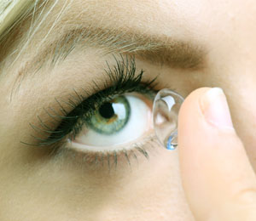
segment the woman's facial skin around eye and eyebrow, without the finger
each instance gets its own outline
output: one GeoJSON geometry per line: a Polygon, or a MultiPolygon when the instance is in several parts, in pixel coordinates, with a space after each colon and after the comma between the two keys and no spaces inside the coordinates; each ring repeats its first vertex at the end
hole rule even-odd
{"type": "Polygon", "coordinates": [[[103,167],[91,171],[72,160],[53,161],[20,145],[30,133],[27,124],[34,111],[39,113],[50,99],[65,95],[70,82],[86,84],[80,70],[90,70],[87,80],[93,79],[95,68],[105,60],[97,56],[97,47],[74,52],[51,77],[45,77],[43,69],[31,81],[26,79],[11,103],[6,82],[11,84],[15,73],[47,42],[77,26],[137,31],[201,45],[207,49],[203,69],[180,70],[147,59],[138,59],[137,64],[149,76],[160,71],[160,81],[183,96],[204,86],[224,88],[236,131],[256,168],[255,14],[253,0],[59,1],[15,65],[4,67],[9,75],[0,81],[0,219],[193,220],[179,178],[177,152],[166,154],[157,148],[149,161],[141,158],[131,168],[122,166],[109,173],[103,167]]]}

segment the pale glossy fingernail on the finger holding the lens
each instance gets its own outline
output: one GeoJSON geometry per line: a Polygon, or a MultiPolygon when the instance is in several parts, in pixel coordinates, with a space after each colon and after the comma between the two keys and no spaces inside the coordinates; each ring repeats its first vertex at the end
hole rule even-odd
{"type": "Polygon", "coordinates": [[[233,128],[230,108],[221,88],[211,88],[201,97],[201,111],[207,122],[221,128],[233,128]]]}

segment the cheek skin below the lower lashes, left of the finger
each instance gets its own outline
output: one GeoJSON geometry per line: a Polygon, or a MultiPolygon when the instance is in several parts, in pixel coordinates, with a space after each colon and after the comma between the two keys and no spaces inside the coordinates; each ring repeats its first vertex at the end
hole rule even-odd
{"type": "Polygon", "coordinates": [[[15,214],[22,220],[193,220],[177,159],[177,151],[154,148],[148,160],[138,156],[131,167],[126,162],[111,170],[71,159],[9,167],[1,178],[3,220],[16,220],[15,214]]]}

